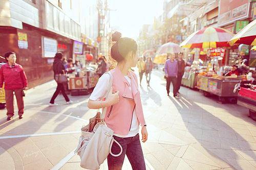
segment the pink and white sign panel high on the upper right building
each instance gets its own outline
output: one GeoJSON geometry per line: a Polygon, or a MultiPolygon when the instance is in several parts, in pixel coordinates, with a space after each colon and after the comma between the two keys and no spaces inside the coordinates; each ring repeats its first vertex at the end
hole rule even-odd
{"type": "Polygon", "coordinates": [[[220,0],[219,27],[225,26],[235,20],[244,19],[249,16],[249,0],[220,0]]]}

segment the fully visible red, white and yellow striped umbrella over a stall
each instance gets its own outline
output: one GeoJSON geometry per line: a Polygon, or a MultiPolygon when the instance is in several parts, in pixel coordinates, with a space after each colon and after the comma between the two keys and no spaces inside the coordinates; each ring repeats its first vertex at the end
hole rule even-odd
{"type": "Polygon", "coordinates": [[[230,46],[233,34],[222,28],[207,27],[189,35],[181,44],[184,48],[217,48],[230,46]]]}

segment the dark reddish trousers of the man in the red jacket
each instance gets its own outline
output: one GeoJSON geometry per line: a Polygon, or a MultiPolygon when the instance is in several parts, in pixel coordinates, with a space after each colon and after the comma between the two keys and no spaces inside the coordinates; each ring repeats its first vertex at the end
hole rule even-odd
{"type": "Polygon", "coordinates": [[[14,106],[13,106],[13,92],[16,96],[17,105],[18,105],[18,115],[22,116],[24,113],[24,101],[23,101],[23,88],[15,90],[5,89],[5,100],[7,108],[7,116],[12,117],[14,115],[14,106]]]}

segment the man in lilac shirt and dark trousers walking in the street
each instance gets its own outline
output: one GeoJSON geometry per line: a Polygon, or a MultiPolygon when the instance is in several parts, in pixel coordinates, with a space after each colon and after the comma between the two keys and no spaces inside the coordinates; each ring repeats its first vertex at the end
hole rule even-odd
{"type": "Polygon", "coordinates": [[[166,90],[167,90],[167,95],[169,96],[170,92],[170,82],[173,83],[173,93],[174,97],[177,97],[177,87],[176,87],[176,82],[177,82],[177,75],[178,75],[178,63],[175,60],[175,55],[171,54],[169,59],[166,60],[165,66],[164,66],[164,72],[165,72],[165,77],[166,77],[166,90]]]}

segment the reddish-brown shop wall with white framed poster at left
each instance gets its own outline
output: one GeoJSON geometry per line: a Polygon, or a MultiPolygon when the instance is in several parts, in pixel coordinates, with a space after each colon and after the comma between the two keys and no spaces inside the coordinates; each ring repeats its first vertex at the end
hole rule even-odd
{"type": "Polygon", "coordinates": [[[57,51],[72,57],[71,39],[23,23],[23,29],[0,27],[0,55],[13,51],[28,77],[29,87],[53,80],[52,63],[57,51]],[[71,48],[70,48],[71,46],[71,48]]]}

